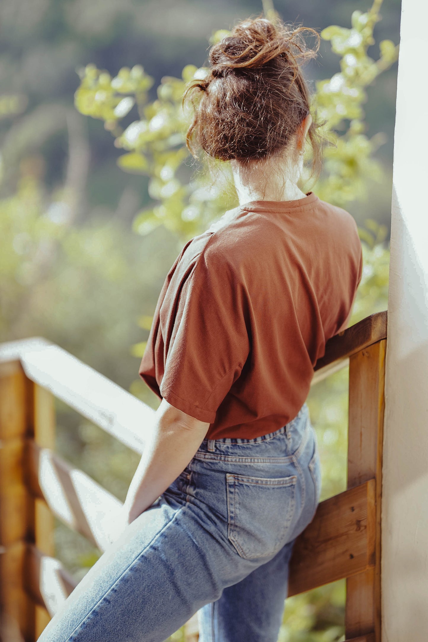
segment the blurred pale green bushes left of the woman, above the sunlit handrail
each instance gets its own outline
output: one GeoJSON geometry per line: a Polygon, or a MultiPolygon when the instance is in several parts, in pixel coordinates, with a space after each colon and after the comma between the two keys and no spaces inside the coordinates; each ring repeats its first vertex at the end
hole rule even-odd
{"type": "Polygon", "coordinates": [[[50,193],[29,160],[17,191],[0,198],[1,336],[43,334],[129,386],[136,319],[152,312],[177,240],[138,238],[120,218],[72,224],[65,193],[50,193]]]}

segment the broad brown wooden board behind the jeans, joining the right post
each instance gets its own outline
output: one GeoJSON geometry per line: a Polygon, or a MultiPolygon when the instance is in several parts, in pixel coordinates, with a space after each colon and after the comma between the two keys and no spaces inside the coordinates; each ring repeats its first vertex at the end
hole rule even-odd
{"type": "Polygon", "coordinates": [[[374,522],[374,480],[322,501],[313,521],[295,542],[288,596],[372,566],[374,522]]]}

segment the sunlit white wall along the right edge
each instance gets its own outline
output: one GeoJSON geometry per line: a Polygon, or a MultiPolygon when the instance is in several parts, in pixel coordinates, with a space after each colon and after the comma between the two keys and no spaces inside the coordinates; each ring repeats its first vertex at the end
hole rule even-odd
{"type": "Polygon", "coordinates": [[[386,349],[382,642],[428,641],[427,26],[427,0],[402,0],[386,349]]]}

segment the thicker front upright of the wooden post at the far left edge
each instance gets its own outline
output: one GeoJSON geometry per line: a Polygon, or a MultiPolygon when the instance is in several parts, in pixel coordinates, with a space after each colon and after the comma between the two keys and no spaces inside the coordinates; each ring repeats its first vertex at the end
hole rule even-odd
{"type": "Polygon", "coordinates": [[[31,387],[17,362],[0,363],[0,638],[35,639],[35,608],[24,591],[25,540],[34,537],[34,501],[23,470],[33,426],[31,387]]]}

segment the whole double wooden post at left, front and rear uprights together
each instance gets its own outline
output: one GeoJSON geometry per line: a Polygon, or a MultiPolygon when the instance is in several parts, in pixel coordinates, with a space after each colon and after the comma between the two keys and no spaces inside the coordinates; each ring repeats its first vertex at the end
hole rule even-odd
{"type": "Polygon", "coordinates": [[[51,394],[33,384],[18,361],[0,363],[0,637],[33,642],[49,621],[24,590],[27,544],[54,554],[53,516],[26,483],[26,443],[54,446],[51,394]]]}

